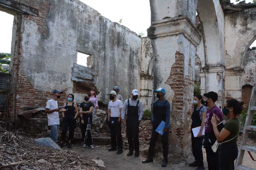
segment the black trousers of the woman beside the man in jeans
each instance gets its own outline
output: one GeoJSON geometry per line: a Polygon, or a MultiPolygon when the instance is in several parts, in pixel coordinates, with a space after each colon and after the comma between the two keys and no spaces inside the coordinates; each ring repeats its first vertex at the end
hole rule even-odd
{"type": "Polygon", "coordinates": [[[69,128],[68,139],[73,140],[75,128],[76,128],[76,119],[74,117],[66,117],[66,116],[64,117],[62,132],[61,132],[61,140],[66,139],[68,128],[69,128]]]}

